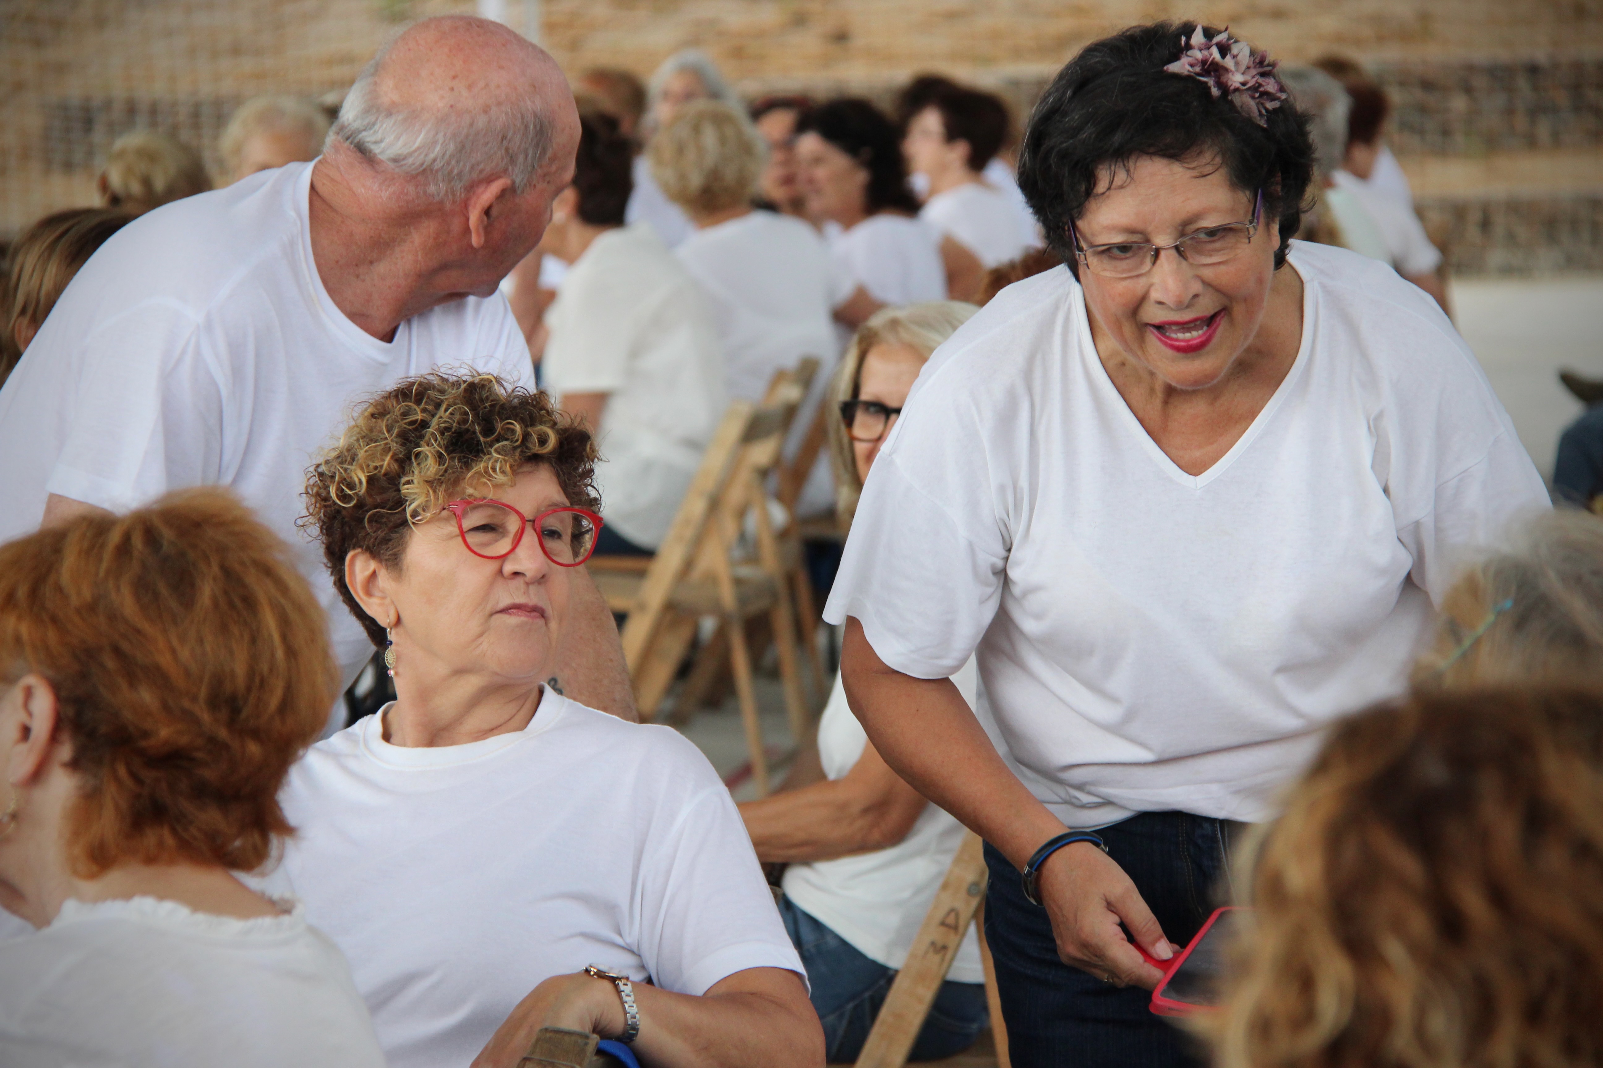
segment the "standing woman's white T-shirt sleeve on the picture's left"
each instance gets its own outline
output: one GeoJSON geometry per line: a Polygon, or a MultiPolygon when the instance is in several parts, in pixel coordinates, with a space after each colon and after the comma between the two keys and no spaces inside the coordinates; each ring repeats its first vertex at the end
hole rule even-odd
{"type": "Polygon", "coordinates": [[[856,616],[886,664],[946,679],[1002,602],[1016,487],[991,453],[1008,434],[983,429],[941,379],[915,397],[869,472],[824,618],[856,616]]]}

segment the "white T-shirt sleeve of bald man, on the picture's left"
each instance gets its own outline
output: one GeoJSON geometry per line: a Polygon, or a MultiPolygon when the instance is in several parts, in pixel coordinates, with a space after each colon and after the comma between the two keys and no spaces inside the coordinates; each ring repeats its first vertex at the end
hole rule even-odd
{"type": "Polygon", "coordinates": [[[82,344],[50,493],[127,511],[168,490],[224,480],[226,370],[208,359],[191,315],[144,303],[82,344]]]}

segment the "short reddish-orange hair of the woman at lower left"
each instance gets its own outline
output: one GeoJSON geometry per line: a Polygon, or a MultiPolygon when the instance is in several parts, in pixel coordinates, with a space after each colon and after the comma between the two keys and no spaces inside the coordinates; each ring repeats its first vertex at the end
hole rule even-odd
{"type": "Polygon", "coordinates": [[[277,794],[338,693],[289,546],[220,488],[0,546],[0,679],[56,692],[75,874],[261,866],[277,794]]]}

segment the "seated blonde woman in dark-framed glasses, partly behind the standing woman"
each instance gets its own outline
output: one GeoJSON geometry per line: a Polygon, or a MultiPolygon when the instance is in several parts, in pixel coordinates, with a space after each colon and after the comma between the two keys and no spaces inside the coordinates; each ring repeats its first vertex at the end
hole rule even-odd
{"type": "MultiPolygon", "coordinates": [[[[830,423],[843,514],[851,514],[930,352],[975,311],[955,301],[890,307],[858,330],[835,379],[843,418],[830,423]]],[[[952,681],[973,706],[975,661],[952,681]]],[[[742,804],[741,817],[758,860],[789,861],[779,911],[813,983],[827,1060],[842,1063],[862,1050],[963,828],[880,759],[846,706],[838,676],[819,721],[818,749],[826,781],[742,804]]],[[[959,1054],[986,1018],[979,942],[970,930],[912,1060],[959,1054]]]]}

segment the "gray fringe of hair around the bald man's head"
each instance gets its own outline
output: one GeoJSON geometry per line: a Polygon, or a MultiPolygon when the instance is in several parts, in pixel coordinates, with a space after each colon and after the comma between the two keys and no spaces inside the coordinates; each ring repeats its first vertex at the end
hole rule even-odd
{"type": "Polygon", "coordinates": [[[478,183],[505,176],[524,192],[551,155],[555,131],[534,85],[513,102],[471,112],[406,110],[378,98],[375,78],[390,54],[382,48],[356,77],[329,131],[401,175],[417,178],[431,200],[454,202],[478,183]]]}

